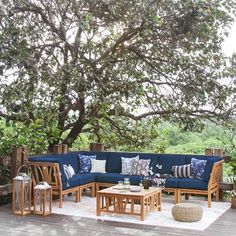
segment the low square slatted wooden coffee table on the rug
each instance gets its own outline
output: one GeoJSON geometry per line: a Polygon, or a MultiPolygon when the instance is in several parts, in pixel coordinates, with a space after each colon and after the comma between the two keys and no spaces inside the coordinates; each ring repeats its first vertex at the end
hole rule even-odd
{"type": "Polygon", "coordinates": [[[108,212],[138,215],[144,220],[145,214],[154,210],[161,210],[161,189],[156,187],[131,192],[116,185],[97,192],[97,216],[108,212]]]}

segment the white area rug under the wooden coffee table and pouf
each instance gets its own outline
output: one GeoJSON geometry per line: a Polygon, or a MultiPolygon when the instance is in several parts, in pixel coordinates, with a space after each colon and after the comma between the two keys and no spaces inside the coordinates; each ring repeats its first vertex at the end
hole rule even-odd
{"type": "Polygon", "coordinates": [[[75,197],[64,198],[63,208],[59,208],[58,201],[53,202],[52,211],[55,214],[70,215],[75,217],[88,217],[101,221],[114,221],[124,223],[134,223],[150,225],[154,227],[174,227],[193,230],[204,230],[210,226],[218,217],[230,208],[229,202],[212,202],[212,207],[207,207],[207,201],[188,200],[182,202],[192,202],[203,207],[203,217],[198,222],[178,222],[174,220],[171,209],[174,206],[173,199],[162,199],[162,210],[146,214],[144,221],[140,221],[139,216],[102,213],[96,216],[96,198],[82,196],[79,203],[74,202],[75,197]]]}

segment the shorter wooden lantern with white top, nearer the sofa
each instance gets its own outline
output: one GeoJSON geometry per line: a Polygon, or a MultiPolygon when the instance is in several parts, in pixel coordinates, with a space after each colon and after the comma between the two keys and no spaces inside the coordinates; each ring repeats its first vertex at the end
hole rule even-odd
{"type": "Polygon", "coordinates": [[[36,185],[34,187],[34,214],[47,216],[52,212],[52,187],[36,185]]]}

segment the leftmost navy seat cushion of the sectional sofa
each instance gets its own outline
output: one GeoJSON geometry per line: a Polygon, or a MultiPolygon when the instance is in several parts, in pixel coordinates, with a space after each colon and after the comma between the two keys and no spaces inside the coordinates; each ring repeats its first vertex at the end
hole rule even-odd
{"type": "Polygon", "coordinates": [[[95,182],[95,180],[96,174],[93,173],[76,174],[68,181],[63,182],[63,190],[92,183],[95,182]]]}

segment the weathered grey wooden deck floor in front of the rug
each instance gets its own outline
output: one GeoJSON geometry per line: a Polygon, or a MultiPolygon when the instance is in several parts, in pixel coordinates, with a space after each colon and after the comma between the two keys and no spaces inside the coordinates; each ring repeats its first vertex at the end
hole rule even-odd
{"type": "Polygon", "coordinates": [[[84,235],[84,236],[233,236],[236,232],[236,210],[229,209],[204,231],[184,230],[168,227],[152,227],[140,224],[125,224],[96,221],[88,218],[51,214],[47,217],[13,215],[10,206],[0,207],[0,235],[84,235]]]}

